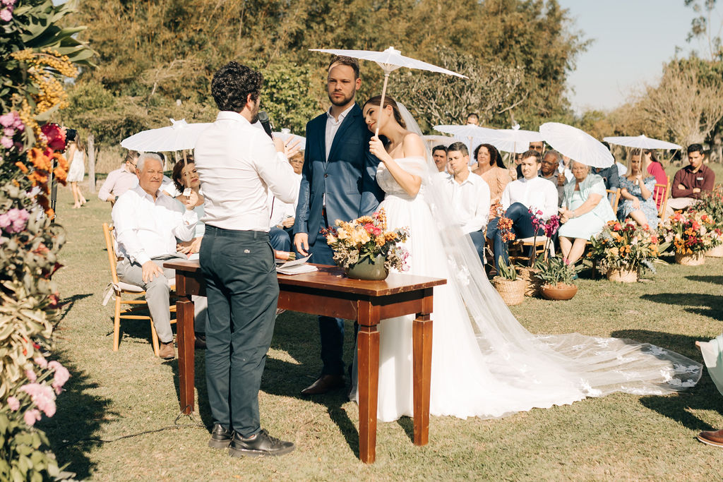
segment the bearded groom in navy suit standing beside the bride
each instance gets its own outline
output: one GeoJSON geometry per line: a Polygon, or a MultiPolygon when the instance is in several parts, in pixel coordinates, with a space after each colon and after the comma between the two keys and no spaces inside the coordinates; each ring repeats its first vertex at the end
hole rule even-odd
{"type": "MultiPolygon", "coordinates": [[[[375,176],[379,160],[369,153],[372,132],[354,98],[361,86],[359,64],[337,56],[329,64],[327,91],[331,108],[307,124],[307,148],[296,207],[294,246],[311,261],[334,264],[320,233],[335,220],[350,221],[374,212],[383,193],[375,176]]],[[[319,317],[321,376],[301,391],[319,395],[344,387],[342,319],[319,317]]]]}

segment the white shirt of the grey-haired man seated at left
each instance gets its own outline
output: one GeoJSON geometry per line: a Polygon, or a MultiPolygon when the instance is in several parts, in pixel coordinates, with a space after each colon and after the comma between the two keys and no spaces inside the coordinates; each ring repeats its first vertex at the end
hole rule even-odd
{"type": "Polygon", "coordinates": [[[118,198],[113,207],[119,256],[143,265],[151,258],[176,254],[176,238],[189,241],[198,216],[158,189],[155,201],[141,186],[118,198]]]}

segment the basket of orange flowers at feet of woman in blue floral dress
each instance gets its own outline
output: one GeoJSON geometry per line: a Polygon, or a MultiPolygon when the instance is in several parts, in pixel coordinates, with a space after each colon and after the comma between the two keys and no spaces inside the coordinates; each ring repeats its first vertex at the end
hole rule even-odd
{"type": "Polygon", "coordinates": [[[607,271],[608,280],[635,283],[643,268],[655,272],[658,236],[647,226],[638,226],[632,221],[625,224],[609,221],[590,242],[588,257],[607,271]]]}

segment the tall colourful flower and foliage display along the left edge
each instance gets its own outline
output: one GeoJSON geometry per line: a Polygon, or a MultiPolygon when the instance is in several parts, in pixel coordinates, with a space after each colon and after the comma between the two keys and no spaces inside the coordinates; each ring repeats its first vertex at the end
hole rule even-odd
{"type": "Polygon", "coordinates": [[[60,470],[35,423],[54,416],[70,376],[46,357],[60,318],[52,275],[64,244],[48,196],[51,178],[64,183],[68,169],[64,129],[48,121],[67,104],[64,80],[93,56],[74,38],[77,27],[57,25],[71,3],[0,4],[0,480],[60,470]]]}

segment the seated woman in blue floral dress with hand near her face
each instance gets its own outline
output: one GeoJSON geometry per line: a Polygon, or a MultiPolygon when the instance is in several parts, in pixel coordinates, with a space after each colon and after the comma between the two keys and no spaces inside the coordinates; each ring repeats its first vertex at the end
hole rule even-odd
{"type": "Polygon", "coordinates": [[[630,157],[627,176],[620,178],[620,198],[623,202],[617,208],[621,221],[632,218],[638,225],[648,225],[651,230],[658,228],[658,209],[653,198],[655,178],[643,173],[640,154],[630,157]]]}

